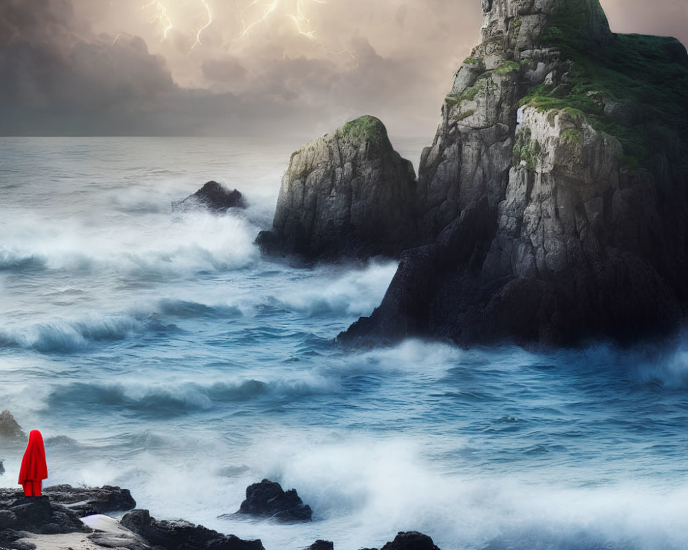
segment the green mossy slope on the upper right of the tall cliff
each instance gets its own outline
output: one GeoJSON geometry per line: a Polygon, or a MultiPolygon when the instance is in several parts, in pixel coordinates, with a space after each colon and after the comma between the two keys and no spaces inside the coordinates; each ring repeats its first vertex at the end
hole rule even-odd
{"type": "Polygon", "coordinates": [[[675,144],[688,142],[685,47],[676,39],[640,34],[614,34],[610,43],[599,44],[581,34],[581,25],[580,10],[552,14],[540,41],[572,61],[572,69],[565,85],[532,87],[521,104],[581,113],[594,129],[621,142],[623,164],[630,168],[657,174],[667,164],[683,166],[677,154],[683,147],[675,144]],[[614,105],[621,105],[625,116],[615,115],[614,105]]]}

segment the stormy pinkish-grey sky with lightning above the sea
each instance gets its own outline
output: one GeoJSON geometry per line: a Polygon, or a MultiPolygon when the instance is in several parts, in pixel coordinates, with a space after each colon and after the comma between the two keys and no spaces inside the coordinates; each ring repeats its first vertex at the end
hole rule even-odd
{"type": "MultiPolygon", "coordinates": [[[[688,0],[601,0],[688,43],[688,0]]],[[[430,138],[480,0],[0,0],[0,135],[430,138]]]]}

